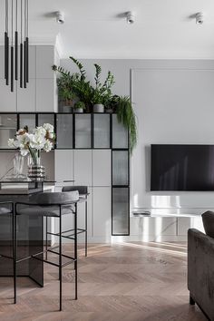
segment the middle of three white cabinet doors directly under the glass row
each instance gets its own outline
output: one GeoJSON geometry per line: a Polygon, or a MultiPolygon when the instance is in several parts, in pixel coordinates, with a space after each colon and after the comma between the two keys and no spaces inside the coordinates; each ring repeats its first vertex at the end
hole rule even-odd
{"type": "Polygon", "coordinates": [[[74,184],[92,186],[92,150],[75,150],[74,184]]]}

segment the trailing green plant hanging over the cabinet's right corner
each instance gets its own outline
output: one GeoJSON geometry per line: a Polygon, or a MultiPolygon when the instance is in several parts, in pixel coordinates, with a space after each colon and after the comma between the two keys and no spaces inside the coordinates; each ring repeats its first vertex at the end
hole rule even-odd
{"type": "Polygon", "coordinates": [[[131,153],[137,144],[137,123],[136,116],[132,108],[129,96],[120,96],[117,98],[117,119],[129,132],[131,153]]]}

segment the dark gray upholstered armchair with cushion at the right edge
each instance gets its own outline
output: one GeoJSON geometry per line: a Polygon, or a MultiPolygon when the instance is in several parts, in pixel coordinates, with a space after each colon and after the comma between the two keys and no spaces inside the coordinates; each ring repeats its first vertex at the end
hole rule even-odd
{"type": "MultiPolygon", "coordinates": [[[[214,223],[214,213],[202,215],[204,228],[214,223]]],[[[214,321],[214,238],[198,229],[188,231],[188,288],[190,304],[197,305],[214,321]]]]}

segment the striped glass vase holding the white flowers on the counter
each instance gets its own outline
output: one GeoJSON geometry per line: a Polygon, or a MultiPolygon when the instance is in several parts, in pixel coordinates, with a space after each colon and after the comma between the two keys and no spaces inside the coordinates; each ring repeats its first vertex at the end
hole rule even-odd
{"type": "Polygon", "coordinates": [[[30,180],[44,180],[45,170],[44,166],[41,165],[41,158],[39,151],[32,151],[28,156],[28,178],[30,180]]]}

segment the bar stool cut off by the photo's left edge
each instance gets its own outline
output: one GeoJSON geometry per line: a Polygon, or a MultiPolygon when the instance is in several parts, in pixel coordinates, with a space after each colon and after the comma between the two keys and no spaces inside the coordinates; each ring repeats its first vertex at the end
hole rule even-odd
{"type": "Polygon", "coordinates": [[[12,219],[12,256],[0,253],[0,258],[8,258],[13,260],[13,270],[14,270],[14,289],[15,289],[15,211],[14,203],[12,201],[1,201],[0,202],[0,217],[11,216],[12,219]]]}

